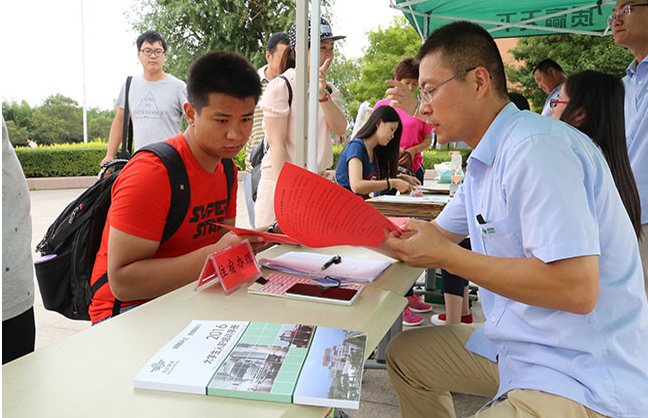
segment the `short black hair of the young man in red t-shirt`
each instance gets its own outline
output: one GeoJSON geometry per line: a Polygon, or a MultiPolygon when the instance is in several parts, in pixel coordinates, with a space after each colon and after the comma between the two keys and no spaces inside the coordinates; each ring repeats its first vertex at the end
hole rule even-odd
{"type": "Polygon", "coordinates": [[[261,96],[261,81],[250,60],[238,52],[210,51],[189,67],[187,99],[200,113],[209,103],[211,93],[222,93],[237,99],[261,96]]]}

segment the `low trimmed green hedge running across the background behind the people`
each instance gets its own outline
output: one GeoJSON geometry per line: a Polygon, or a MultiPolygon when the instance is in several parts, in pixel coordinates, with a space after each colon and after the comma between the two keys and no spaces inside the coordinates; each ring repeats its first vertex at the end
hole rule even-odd
{"type": "MultiPolygon", "coordinates": [[[[16,155],[22,164],[26,177],[75,177],[96,176],[99,163],[106,155],[105,143],[63,144],[39,146],[38,148],[18,147],[16,155]]],[[[337,166],[344,145],[333,145],[333,167],[337,166]]],[[[470,155],[469,149],[459,150],[465,162],[470,155]]],[[[423,152],[423,165],[433,169],[434,164],[450,161],[448,150],[426,150],[423,152]]],[[[239,170],[245,167],[245,150],[234,158],[239,170]]]]}

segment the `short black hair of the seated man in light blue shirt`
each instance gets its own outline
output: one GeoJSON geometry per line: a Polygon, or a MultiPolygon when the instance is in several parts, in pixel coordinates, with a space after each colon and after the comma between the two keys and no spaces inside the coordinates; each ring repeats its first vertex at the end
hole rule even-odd
{"type": "Polygon", "coordinates": [[[493,80],[494,91],[507,96],[504,62],[493,37],[481,26],[466,21],[441,26],[425,41],[418,54],[420,62],[426,55],[440,51],[443,65],[460,74],[469,68],[484,67],[493,80]]]}

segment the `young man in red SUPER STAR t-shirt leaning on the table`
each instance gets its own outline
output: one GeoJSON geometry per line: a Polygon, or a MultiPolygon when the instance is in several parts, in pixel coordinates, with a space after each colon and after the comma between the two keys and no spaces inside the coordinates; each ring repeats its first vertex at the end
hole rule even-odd
{"type": "MultiPolygon", "coordinates": [[[[112,188],[112,203],[91,284],[108,272],[108,286],[90,304],[93,323],[112,315],[115,297],[123,312],[196,280],[207,256],[244,238],[215,222],[234,225],[236,182],[227,201],[221,158],[233,158],[252,130],[261,95],[256,69],[234,52],[212,51],[194,61],[187,78],[189,127],[168,139],[185,164],[191,203],[178,231],[160,243],[171,200],[164,164],[152,153],[137,154],[112,188]]],[[[236,175],[236,170],[235,170],[236,175]]]]}

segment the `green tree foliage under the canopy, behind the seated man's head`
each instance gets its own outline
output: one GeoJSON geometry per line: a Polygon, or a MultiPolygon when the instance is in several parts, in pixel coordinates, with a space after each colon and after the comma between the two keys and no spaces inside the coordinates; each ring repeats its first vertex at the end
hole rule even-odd
{"type": "Polygon", "coordinates": [[[534,109],[542,109],[547,94],[533,78],[533,69],[545,58],[556,61],[569,75],[583,70],[596,70],[618,77],[633,59],[632,54],[614,44],[611,36],[548,35],[520,38],[511,50],[522,65],[507,65],[509,90],[522,93],[534,109]]]}

